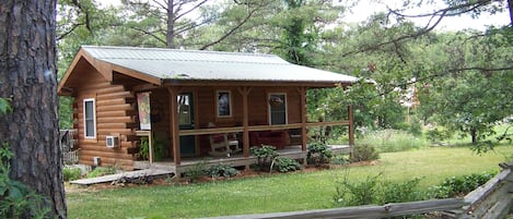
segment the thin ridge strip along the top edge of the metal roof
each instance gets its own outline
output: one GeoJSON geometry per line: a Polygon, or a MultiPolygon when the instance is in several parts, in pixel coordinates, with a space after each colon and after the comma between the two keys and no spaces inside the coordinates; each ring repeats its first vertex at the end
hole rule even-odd
{"type": "Polygon", "coordinates": [[[158,47],[124,47],[124,46],[94,46],[94,45],[82,45],[81,47],[82,48],[98,48],[98,49],[175,51],[175,52],[186,52],[186,53],[213,53],[213,54],[232,54],[232,56],[248,56],[248,57],[278,57],[277,54],[269,54],[269,53],[211,51],[211,50],[195,50],[195,49],[172,49],[172,48],[158,48],[158,47]]]}

